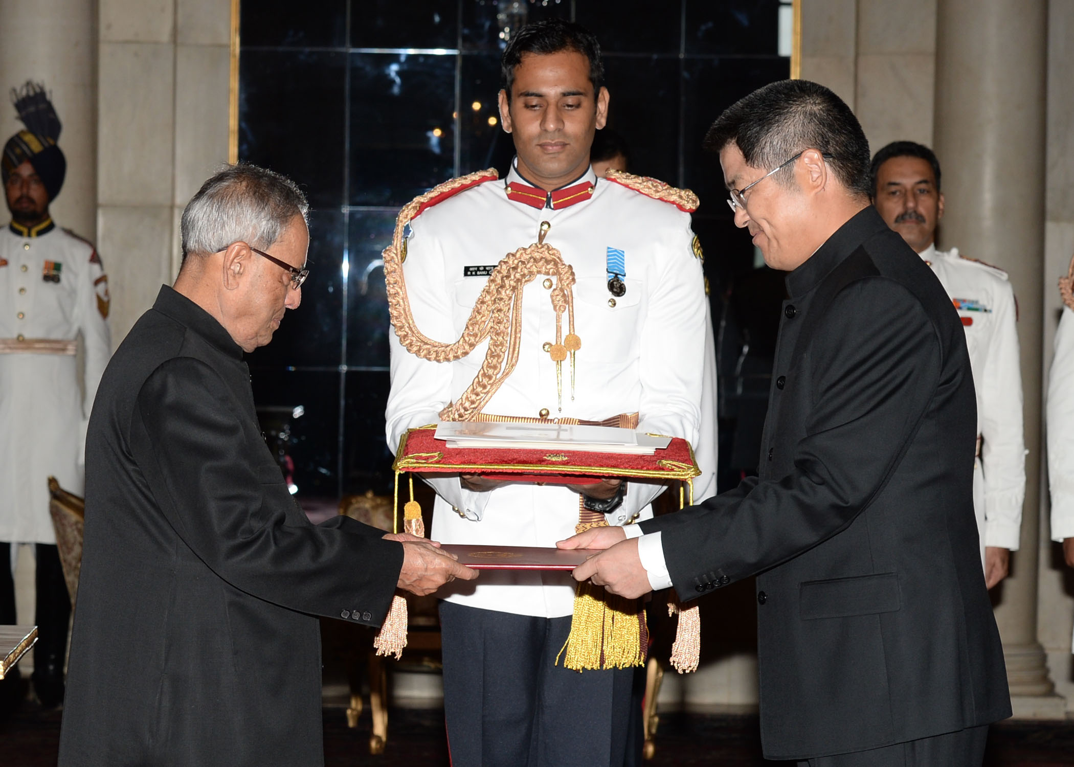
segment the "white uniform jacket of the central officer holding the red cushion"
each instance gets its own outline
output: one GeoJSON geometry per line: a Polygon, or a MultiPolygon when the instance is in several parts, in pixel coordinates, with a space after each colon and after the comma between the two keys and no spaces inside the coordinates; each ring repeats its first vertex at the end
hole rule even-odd
{"type": "MultiPolygon", "coordinates": [[[[518,366],[483,413],[536,417],[547,409],[550,418],[586,420],[639,413],[640,430],[696,445],[703,380],[709,380],[708,397],[714,403],[715,375],[690,215],[620,184],[598,182],[592,169],[575,182],[595,183],[592,197],[561,209],[508,200],[508,180],[527,184],[512,169],[506,179],[467,189],[411,221],[404,274],[418,329],[439,342],[456,341],[491,267],[537,242],[538,228],[548,221],[546,244],[562,252],[577,277],[575,332],[582,347],[574,397],[565,361],[561,411],[555,363],[542,348],[555,341],[555,313],[538,276],[523,290],[518,366]],[[606,276],[609,247],[625,252],[626,293],[614,302],[606,276]],[[465,276],[467,266],[489,269],[469,270],[485,276],[465,276]],[[707,366],[712,367],[708,374],[707,366]]],[[[440,409],[465,391],[487,348],[484,343],[461,360],[434,363],[406,351],[391,335],[387,433],[393,451],[407,429],[435,423],[440,409]]],[[[714,435],[714,428],[707,432],[714,435]]],[[[714,443],[699,452],[699,461],[711,462],[706,467],[711,476],[714,443]]],[[[579,496],[562,486],[513,483],[475,493],[463,490],[456,477],[430,483],[437,492],[431,537],[444,542],[551,547],[572,535],[578,523],[579,496]]],[[[649,518],[649,504],[661,490],[627,483],[623,504],[607,516],[608,522],[649,518]]],[[[575,589],[569,574],[487,570],[477,581],[456,581],[439,595],[471,607],[556,618],[571,613],[575,589]]]]}

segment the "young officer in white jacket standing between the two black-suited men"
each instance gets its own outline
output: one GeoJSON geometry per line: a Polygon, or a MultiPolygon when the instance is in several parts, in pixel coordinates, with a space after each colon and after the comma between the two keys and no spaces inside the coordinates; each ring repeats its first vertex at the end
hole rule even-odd
{"type": "MultiPolygon", "coordinates": [[[[518,365],[482,413],[594,421],[637,413],[638,429],[696,444],[702,380],[706,367],[714,367],[700,249],[683,209],[593,173],[590,145],[608,104],[600,74],[599,47],[576,25],[545,21],[512,38],[499,106],[518,156],[506,178],[476,182],[411,221],[404,263],[409,304],[421,332],[454,342],[495,264],[537,242],[548,222],[545,243],[577,277],[575,332],[582,346],[574,378],[567,362],[557,376],[550,357],[553,283],[538,277],[523,291],[518,365]]],[[[394,334],[391,341],[387,432],[395,449],[407,429],[436,422],[458,400],[487,344],[456,362],[434,363],[409,353],[394,334]]],[[[711,390],[713,371],[709,381],[711,390]]],[[[711,462],[711,477],[714,445],[701,460],[711,462]]],[[[477,476],[431,484],[438,495],[434,539],[539,547],[574,534],[579,492],[589,508],[621,525],[651,516],[661,490],[618,480],[568,488],[477,476]]],[[[579,674],[556,665],[574,598],[569,574],[487,570],[473,585],[448,587],[440,610],[445,711],[456,767],[623,764],[633,671],[579,674]]]]}

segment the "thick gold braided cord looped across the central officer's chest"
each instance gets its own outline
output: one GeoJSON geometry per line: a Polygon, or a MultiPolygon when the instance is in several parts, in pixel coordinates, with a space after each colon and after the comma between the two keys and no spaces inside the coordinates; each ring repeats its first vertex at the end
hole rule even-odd
{"type": "MultiPolygon", "coordinates": [[[[404,228],[419,213],[439,200],[496,177],[495,170],[471,173],[440,184],[415,198],[400,211],[392,244],[383,251],[384,283],[392,327],[407,351],[431,362],[452,362],[466,357],[482,342],[489,342],[484,362],[474,381],[459,400],[440,411],[440,418],[445,421],[473,419],[514,371],[522,341],[522,289],[538,274],[555,277],[555,287],[550,292],[556,317],[556,345],[562,346],[564,343],[561,324],[564,314],[568,315],[568,341],[571,336],[577,341],[571,291],[575,271],[564,262],[558,250],[543,243],[549,229],[545,223],[541,225],[538,242],[508,254],[493,270],[459,341],[451,344],[433,341],[418,330],[403,276],[403,259],[406,254],[404,228]]],[[[575,349],[570,351],[574,361],[575,349]]]]}

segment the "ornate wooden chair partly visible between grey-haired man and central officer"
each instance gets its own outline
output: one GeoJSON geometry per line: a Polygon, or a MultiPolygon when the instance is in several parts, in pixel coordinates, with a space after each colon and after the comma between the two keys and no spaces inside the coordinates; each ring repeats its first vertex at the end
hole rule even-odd
{"type": "MultiPolygon", "coordinates": [[[[424,492],[416,488],[419,493],[424,492]]],[[[432,491],[427,497],[420,497],[422,508],[432,509],[432,491]]],[[[366,491],[363,495],[348,495],[339,502],[339,513],[364,522],[386,532],[392,531],[392,498],[374,495],[366,491]]],[[[401,512],[402,513],[402,512],[401,512]]],[[[397,666],[409,666],[421,670],[439,670],[440,624],[435,596],[407,595],[407,618],[409,631],[403,660],[397,666]]],[[[352,626],[359,628],[358,626],[352,626]]],[[[374,629],[350,633],[348,638],[360,637],[358,646],[343,648],[347,664],[347,680],[350,685],[350,706],[347,708],[347,726],[357,727],[362,715],[362,666],[368,671],[369,713],[373,718],[373,735],[369,736],[369,753],[380,754],[388,742],[388,664],[386,659],[373,649],[374,629]],[[363,664],[363,656],[365,663],[363,664]]]]}

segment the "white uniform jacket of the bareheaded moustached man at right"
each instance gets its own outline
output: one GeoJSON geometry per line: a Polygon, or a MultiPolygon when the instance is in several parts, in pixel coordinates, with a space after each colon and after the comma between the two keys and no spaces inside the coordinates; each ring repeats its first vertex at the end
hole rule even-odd
{"type": "Polygon", "coordinates": [[[930,245],[920,256],[955,303],[970,350],[982,438],[973,475],[981,553],[986,546],[1015,551],[1026,497],[1026,444],[1014,290],[1005,272],[962,258],[958,248],[930,245]]]}

